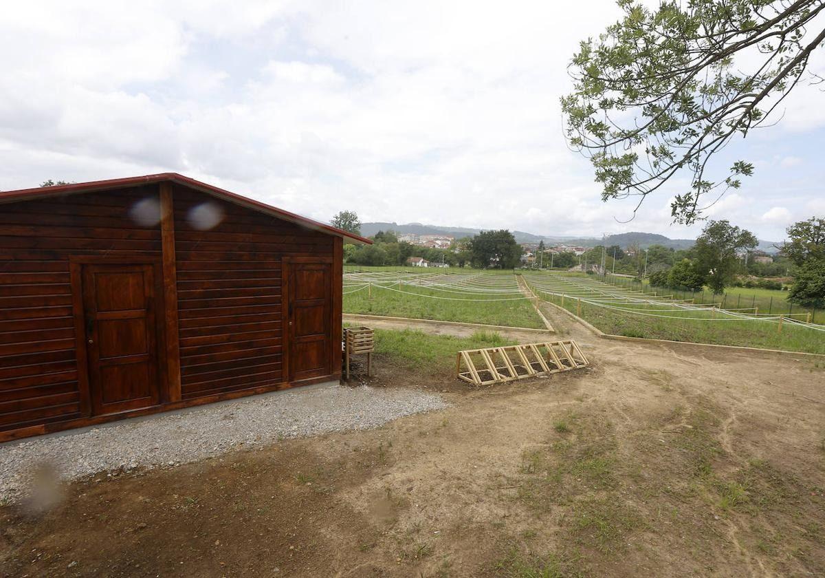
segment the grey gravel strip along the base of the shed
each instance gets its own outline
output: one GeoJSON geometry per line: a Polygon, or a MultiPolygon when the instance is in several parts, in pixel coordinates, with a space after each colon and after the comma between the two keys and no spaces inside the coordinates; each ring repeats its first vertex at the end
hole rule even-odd
{"type": "Polygon", "coordinates": [[[99,471],[196,462],[233,447],[263,446],[344,429],[369,429],[430,410],[440,396],[413,390],[328,386],[255,396],[47,438],[0,445],[0,500],[26,495],[49,464],[68,481],[99,471]]]}

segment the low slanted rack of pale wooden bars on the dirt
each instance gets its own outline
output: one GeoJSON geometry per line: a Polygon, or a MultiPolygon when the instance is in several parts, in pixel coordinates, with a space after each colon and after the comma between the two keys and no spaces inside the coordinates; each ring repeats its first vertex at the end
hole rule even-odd
{"type": "Polygon", "coordinates": [[[474,386],[489,386],[567,372],[587,363],[582,349],[570,339],[460,351],[455,358],[455,374],[474,386]]]}

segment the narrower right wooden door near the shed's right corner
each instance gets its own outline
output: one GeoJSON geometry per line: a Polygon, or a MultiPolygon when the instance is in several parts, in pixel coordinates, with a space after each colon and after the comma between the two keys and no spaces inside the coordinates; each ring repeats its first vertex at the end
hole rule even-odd
{"type": "Polygon", "coordinates": [[[332,373],[332,264],[287,266],[287,339],[290,381],[332,373]]]}

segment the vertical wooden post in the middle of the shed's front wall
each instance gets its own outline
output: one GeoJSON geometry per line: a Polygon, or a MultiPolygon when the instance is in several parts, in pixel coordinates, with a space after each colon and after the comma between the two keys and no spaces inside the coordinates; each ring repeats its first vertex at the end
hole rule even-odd
{"type": "Polygon", "coordinates": [[[177,262],[175,257],[175,211],[172,182],[160,183],[160,228],[163,253],[163,324],[166,343],[167,396],[181,400],[181,348],[177,325],[177,262]]]}

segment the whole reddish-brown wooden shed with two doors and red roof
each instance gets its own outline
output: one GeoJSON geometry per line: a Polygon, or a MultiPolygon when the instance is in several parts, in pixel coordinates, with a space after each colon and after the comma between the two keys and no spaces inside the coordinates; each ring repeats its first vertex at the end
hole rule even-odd
{"type": "Polygon", "coordinates": [[[344,242],[177,173],[0,192],[0,441],[338,380],[344,242]]]}

